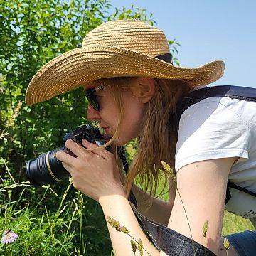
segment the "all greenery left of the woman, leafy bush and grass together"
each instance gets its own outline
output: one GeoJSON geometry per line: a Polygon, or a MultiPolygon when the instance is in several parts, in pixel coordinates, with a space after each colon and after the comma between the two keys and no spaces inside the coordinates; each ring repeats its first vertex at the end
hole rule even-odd
{"type": "MultiPolygon", "coordinates": [[[[102,209],[68,181],[33,188],[25,163],[63,146],[65,133],[87,122],[87,102],[78,90],[25,105],[28,83],[49,60],[82,45],[88,31],[105,21],[137,18],[145,9],[116,9],[109,0],[0,0],[0,232],[19,238],[14,255],[110,255],[102,209]],[[64,196],[65,195],[65,196],[64,196]],[[64,199],[63,199],[64,196],[64,199]]],[[[0,255],[9,253],[1,243],[0,255]]]]}

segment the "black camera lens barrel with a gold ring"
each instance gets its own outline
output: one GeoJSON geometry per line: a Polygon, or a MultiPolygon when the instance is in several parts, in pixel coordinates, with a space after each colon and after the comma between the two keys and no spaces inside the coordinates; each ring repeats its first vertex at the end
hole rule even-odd
{"type": "Polygon", "coordinates": [[[26,176],[33,186],[52,184],[70,177],[61,161],[55,157],[55,153],[63,149],[48,151],[38,156],[37,159],[26,162],[26,176]]]}

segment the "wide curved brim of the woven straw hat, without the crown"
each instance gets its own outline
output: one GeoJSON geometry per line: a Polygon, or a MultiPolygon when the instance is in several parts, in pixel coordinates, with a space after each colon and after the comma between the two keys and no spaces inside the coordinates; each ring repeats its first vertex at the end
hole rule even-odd
{"type": "Polygon", "coordinates": [[[180,68],[134,50],[112,46],[81,47],[58,55],[38,70],[26,90],[26,105],[89,86],[93,80],[120,76],[145,76],[208,85],[224,72],[223,60],[197,68],[180,68]]]}

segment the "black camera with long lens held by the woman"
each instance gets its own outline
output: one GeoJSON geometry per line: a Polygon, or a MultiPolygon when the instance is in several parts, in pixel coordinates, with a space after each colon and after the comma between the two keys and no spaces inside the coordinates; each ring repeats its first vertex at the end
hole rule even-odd
{"type": "MultiPolygon", "coordinates": [[[[68,139],[72,139],[81,145],[82,139],[87,139],[88,142],[98,145],[106,143],[104,137],[100,134],[100,129],[91,127],[89,124],[83,124],[63,137],[64,142],[68,139]]],[[[109,147],[106,149],[109,150],[109,147]]],[[[26,176],[33,186],[38,187],[44,184],[52,184],[70,177],[62,162],[55,157],[55,153],[59,150],[69,151],[73,155],[66,146],[63,146],[59,149],[43,153],[37,159],[26,161],[26,176]]],[[[119,156],[123,163],[125,161],[124,164],[127,164],[126,159],[123,160],[123,157],[125,158],[123,148],[119,150],[119,156]]]]}

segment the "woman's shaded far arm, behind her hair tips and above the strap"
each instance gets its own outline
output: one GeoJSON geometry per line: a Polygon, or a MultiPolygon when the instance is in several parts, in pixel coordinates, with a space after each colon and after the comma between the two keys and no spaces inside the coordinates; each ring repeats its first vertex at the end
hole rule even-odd
{"type": "MultiPolygon", "coordinates": [[[[171,178],[169,179],[169,201],[164,201],[159,198],[154,198],[152,206],[149,208],[149,210],[146,210],[146,206],[142,201],[144,191],[142,191],[142,189],[135,184],[132,186],[132,191],[134,192],[134,195],[137,199],[137,204],[138,204],[137,209],[144,216],[158,223],[161,223],[162,225],[166,225],[166,226],[168,225],[168,221],[171,215],[172,206],[174,205],[174,198],[176,193],[176,183],[171,181],[171,178]]],[[[144,200],[146,201],[148,198],[149,198],[149,194],[146,193],[144,200]]]]}

